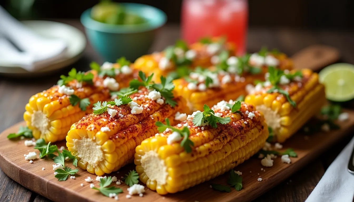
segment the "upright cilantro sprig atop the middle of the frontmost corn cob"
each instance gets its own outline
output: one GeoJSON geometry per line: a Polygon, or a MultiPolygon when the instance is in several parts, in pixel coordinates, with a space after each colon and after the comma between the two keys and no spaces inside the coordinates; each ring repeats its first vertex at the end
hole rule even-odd
{"type": "Polygon", "coordinates": [[[230,117],[217,117],[215,112],[209,108],[208,105],[204,105],[203,112],[198,112],[193,118],[193,123],[195,126],[201,126],[203,123],[209,123],[213,128],[216,128],[216,123],[227,124],[231,121],[230,117]]]}

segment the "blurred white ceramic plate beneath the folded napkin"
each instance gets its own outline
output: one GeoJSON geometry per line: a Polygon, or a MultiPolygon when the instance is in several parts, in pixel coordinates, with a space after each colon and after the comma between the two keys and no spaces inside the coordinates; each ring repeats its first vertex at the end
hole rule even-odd
{"type": "Polygon", "coordinates": [[[86,47],[86,38],[79,29],[64,23],[52,21],[22,21],[35,33],[47,38],[60,38],[68,43],[67,58],[38,71],[29,72],[21,67],[0,67],[0,74],[7,76],[34,76],[49,73],[76,62],[86,47]]]}

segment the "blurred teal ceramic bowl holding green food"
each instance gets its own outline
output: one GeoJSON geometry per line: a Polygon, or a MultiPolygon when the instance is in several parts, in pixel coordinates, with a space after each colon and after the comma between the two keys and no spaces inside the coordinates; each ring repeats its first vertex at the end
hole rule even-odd
{"type": "Polygon", "coordinates": [[[147,22],[138,25],[101,23],[91,18],[91,8],[80,18],[91,45],[108,62],[115,62],[122,56],[133,62],[147,54],[158,28],[166,23],[166,14],[158,8],[144,4],[121,4],[128,12],[145,18],[147,22]]]}

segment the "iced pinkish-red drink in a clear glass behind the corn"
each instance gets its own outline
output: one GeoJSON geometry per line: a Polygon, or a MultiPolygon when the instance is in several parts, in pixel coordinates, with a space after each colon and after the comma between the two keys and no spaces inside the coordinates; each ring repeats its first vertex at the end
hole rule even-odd
{"type": "Polygon", "coordinates": [[[202,37],[226,36],[235,42],[237,54],[245,53],[247,0],[184,0],[182,37],[194,43],[202,37]]]}

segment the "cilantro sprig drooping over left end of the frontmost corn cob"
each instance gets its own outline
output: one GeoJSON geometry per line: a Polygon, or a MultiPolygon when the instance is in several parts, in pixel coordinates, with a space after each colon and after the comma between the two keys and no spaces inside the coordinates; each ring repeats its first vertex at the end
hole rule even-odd
{"type": "Polygon", "coordinates": [[[164,132],[167,128],[170,128],[173,132],[177,132],[181,135],[181,137],[183,138],[181,141],[181,146],[184,148],[184,151],[187,153],[192,152],[192,146],[194,146],[194,143],[192,142],[192,140],[189,139],[189,130],[188,127],[183,127],[182,130],[181,129],[177,129],[175,127],[172,127],[170,125],[170,120],[169,119],[165,119],[166,124],[158,121],[155,123],[156,126],[158,126],[157,130],[162,133],[164,132]]]}

